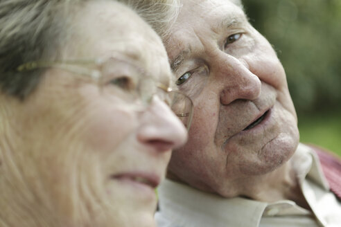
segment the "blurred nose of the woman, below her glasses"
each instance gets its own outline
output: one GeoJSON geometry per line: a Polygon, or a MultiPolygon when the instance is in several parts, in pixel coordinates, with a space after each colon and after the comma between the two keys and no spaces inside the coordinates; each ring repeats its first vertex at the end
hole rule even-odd
{"type": "Polygon", "coordinates": [[[167,152],[186,143],[186,128],[159,98],[153,98],[141,120],[141,127],[137,131],[138,140],[154,147],[156,152],[167,152]]]}

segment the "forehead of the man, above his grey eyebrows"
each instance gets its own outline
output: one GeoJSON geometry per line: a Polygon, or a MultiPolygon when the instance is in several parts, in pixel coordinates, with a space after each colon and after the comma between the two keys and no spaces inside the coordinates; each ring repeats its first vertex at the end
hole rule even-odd
{"type": "MultiPolygon", "coordinates": [[[[236,1],[238,2],[238,1],[236,1]]],[[[171,37],[166,41],[171,68],[176,70],[193,53],[195,33],[209,29],[217,34],[228,34],[229,29],[242,28],[248,24],[243,10],[231,0],[192,1],[184,4],[184,11],[175,22],[171,37]],[[196,10],[191,10],[194,6],[196,10]],[[209,10],[207,7],[209,6],[209,10]]],[[[208,33],[209,34],[209,33],[208,33]]],[[[198,46],[196,46],[198,48],[198,46]]],[[[195,51],[198,49],[195,48],[195,51]]]]}

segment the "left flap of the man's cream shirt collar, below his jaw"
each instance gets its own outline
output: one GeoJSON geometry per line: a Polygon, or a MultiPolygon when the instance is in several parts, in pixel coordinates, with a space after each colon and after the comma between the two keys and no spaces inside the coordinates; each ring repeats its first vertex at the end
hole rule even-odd
{"type": "Polygon", "coordinates": [[[225,199],[170,180],[161,183],[158,192],[160,211],[179,226],[219,226],[217,221],[230,226],[258,226],[268,206],[241,197],[225,199]],[[243,218],[236,218],[241,217],[241,211],[243,218]]]}

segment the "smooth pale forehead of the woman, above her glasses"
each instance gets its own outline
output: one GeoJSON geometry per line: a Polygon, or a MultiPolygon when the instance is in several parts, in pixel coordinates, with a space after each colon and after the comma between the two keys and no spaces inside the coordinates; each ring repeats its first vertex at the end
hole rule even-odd
{"type": "Polygon", "coordinates": [[[76,21],[78,34],[71,41],[77,53],[74,57],[119,54],[153,78],[169,83],[171,70],[161,39],[135,12],[120,4],[116,7],[111,1],[94,2],[83,10],[84,16],[76,21]]]}

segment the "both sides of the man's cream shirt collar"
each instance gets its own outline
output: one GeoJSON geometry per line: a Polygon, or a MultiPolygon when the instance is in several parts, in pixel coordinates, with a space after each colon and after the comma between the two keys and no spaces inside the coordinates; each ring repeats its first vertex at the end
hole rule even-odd
{"type": "MultiPolygon", "coordinates": [[[[315,152],[300,144],[292,158],[294,167],[299,174],[299,182],[304,188],[304,180],[308,176],[323,190],[329,190],[315,152]]],[[[304,190],[304,188],[302,189],[304,190]]],[[[259,226],[262,217],[274,215],[272,211],[275,209],[272,208],[281,206],[291,207],[281,210],[275,215],[311,215],[311,212],[296,206],[292,201],[265,203],[242,197],[226,199],[169,180],[161,183],[158,192],[162,216],[177,224],[175,226],[197,227],[198,224],[215,227],[226,224],[229,226],[259,226]],[[279,206],[279,204],[281,205],[279,206]]],[[[309,199],[307,198],[307,200],[309,199]]]]}

